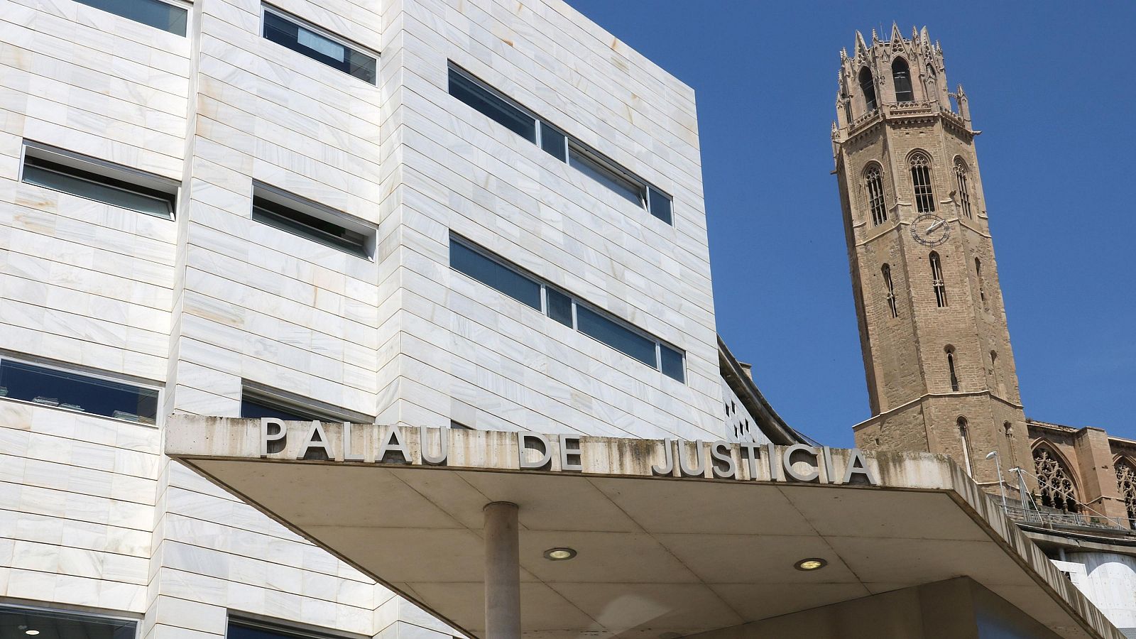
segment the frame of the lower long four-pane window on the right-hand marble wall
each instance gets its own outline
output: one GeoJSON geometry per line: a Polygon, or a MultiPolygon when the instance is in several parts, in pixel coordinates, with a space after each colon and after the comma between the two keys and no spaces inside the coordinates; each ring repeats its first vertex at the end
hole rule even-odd
{"type": "Polygon", "coordinates": [[[488,249],[486,249],[486,248],[477,244],[476,242],[474,242],[474,241],[471,241],[471,240],[469,240],[467,238],[463,238],[461,235],[458,235],[457,233],[451,232],[450,233],[450,241],[451,241],[451,243],[456,242],[458,244],[461,244],[466,249],[471,250],[471,251],[474,251],[476,254],[479,254],[482,257],[485,257],[486,259],[490,259],[490,260],[496,263],[498,265],[500,265],[500,266],[502,266],[504,268],[508,268],[509,271],[512,271],[513,273],[516,273],[516,274],[518,274],[518,275],[520,275],[520,276],[529,280],[531,282],[537,284],[540,287],[540,289],[541,289],[541,296],[540,296],[540,298],[541,298],[541,308],[535,308],[532,305],[529,305],[529,304],[527,304],[527,302],[525,302],[523,300],[519,300],[519,299],[510,296],[509,293],[507,293],[507,292],[504,292],[504,291],[502,291],[502,290],[500,290],[500,289],[498,289],[495,287],[493,287],[492,284],[488,284],[486,282],[482,282],[481,280],[477,280],[476,277],[473,277],[471,275],[467,275],[466,273],[462,273],[461,271],[458,271],[457,268],[454,268],[451,265],[450,269],[453,271],[454,273],[460,273],[462,276],[469,277],[470,280],[473,280],[474,282],[477,282],[478,284],[481,284],[483,287],[488,287],[490,289],[493,289],[494,291],[498,291],[502,296],[508,297],[509,299],[516,301],[517,304],[521,304],[521,305],[524,305],[527,308],[532,308],[533,310],[536,310],[537,313],[541,313],[546,318],[551,320],[552,322],[554,322],[554,323],[557,323],[557,324],[559,324],[561,326],[565,326],[567,329],[571,329],[573,331],[575,331],[575,332],[577,332],[577,333],[579,333],[582,335],[585,335],[588,339],[595,340],[596,342],[603,345],[607,348],[610,348],[611,350],[615,350],[616,352],[619,352],[619,354],[621,354],[621,355],[624,355],[626,357],[630,357],[632,359],[634,359],[636,362],[640,362],[644,366],[652,367],[651,364],[648,364],[646,362],[643,362],[638,357],[635,357],[634,355],[630,355],[630,354],[628,354],[628,352],[626,352],[624,350],[620,350],[619,348],[616,348],[616,347],[613,347],[613,346],[611,346],[611,345],[609,345],[609,343],[600,340],[599,338],[595,338],[595,337],[593,337],[593,335],[591,335],[591,334],[585,333],[584,331],[582,331],[579,329],[579,320],[578,320],[578,315],[577,315],[577,307],[578,306],[583,306],[587,310],[594,313],[595,315],[599,315],[601,318],[607,320],[609,322],[612,322],[613,324],[618,325],[619,327],[621,327],[621,329],[624,329],[624,330],[626,330],[626,331],[628,331],[628,332],[630,332],[630,333],[633,333],[633,334],[635,334],[635,335],[637,335],[640,338],[643,338],[643,339],[645,339],[648,341],[653,342],[654,343],[654,366],[653,366],[653,368],[655,370],[655,372],[658,372],[662,376],[668,377],[670,380],[674,380],[674,381],[676,381],[678,383],[687,384],[687,379],[688,379],[690,374],[688,374],[687,354],[686,354],[685,349],[678,348],[677,346],[673,345],[671,342],[668,342],[667,340],[663,340],[663,339],[660,339],[660,338],[653,335],[652,333],[650,333],[650,332],[648,332],[648,331],[645,331],[645,330],[643,330],[643,329],[641,329],[641,327],[632,324],[630,322],[624,320],[623,317],[619,317],[619,316],[612,314],[611,312],[604,310],[603,308],[600,308],[599,306],[596,306],[596,305],[594,305],[594,304],[592,304],[592,302],[590,302],[590,301],[580,298],[579,296],[577,296],[577,294],[575,294],[575,293],[573,293],[573,292],[570,292],[570,291],[568,291],[566,289],[562,289],[562,288],[560,288],[558,285],[554,285],[554,284],[545,281],[543,277],[540,277],[536,274],[529,273],[529,272],[523,269],[521,267],[509,263],[508,260],[506,260],[501,256],[494,254],[493,251],[491,251],[491,250],[488,250],[488,249]],[[570,326],[567,325],[567,324],[565,324],[563,322],[561,322],[561,321],[552,317],[549,314],[549,296],[548,296],[548,291],[549,290],[556,291],[557,293],[567,297],[568,300],[569,300],[569,302],[571,304],[571,325],[570,326]],[[668,348],[671,351],[677,352],[682,357],[682,371],[683,371],[683,377],[682,379],[675,377],[675,376],[670,375],[669,373],[663,373],[663,371],[662,371],[662,349],[663,348],[668,348]]]}

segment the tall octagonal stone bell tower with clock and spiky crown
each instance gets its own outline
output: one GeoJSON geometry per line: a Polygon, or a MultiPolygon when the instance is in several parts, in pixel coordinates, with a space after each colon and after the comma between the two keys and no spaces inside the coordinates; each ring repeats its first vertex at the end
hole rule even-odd
{"type": "Polygon", "coordinates": [[[975,131],[927,28],[841,51],[833,153],[872,417],[857,446],[1033,471],[975,131]]]}

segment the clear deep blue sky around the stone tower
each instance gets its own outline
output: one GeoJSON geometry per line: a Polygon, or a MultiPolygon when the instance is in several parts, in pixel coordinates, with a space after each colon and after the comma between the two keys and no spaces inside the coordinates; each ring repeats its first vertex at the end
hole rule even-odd
{"type": "Polygon", "coordinates": [[[698,92],[718,331],[790,424],[870,416],[829,132],[841,47],[895,20],[983,131],[1026,415],[1136,438],[1136,2],[569,2],[698,92]]]}

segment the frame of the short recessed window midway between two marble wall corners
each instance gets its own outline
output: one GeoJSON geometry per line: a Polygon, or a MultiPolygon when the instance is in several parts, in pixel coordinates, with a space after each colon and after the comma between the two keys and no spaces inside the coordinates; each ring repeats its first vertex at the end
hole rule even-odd
{"type": "MultiPolygon", "coordinates": [[[[268,210],[268,213],[272,213],[274,215],[281,215],[272,210],[268,210]]],[[[291,191],[285,191],[284,189],[274,186],[266,182],[260,182],[259,180],[252,181],[252,189],[249,198],[249,219],[251,219],[252,222],[257,222],[259,224],[264,224],[266,226],[272,226],[276,230],[283,231],[296,238],[302,238],[310,242],[316,242],[317,244],[323,244],[325,247],[339,250],[341,252],[357,257],[359,259],[366,259],[367,262],[371,263],[375,262],[375,251],[377,250],[377,244],[378,244],[378,227],[375,224],[371,224],[362,218],[356,217],[349,213],[344,213],[336,208],[332,208],[316,200],[304,198],[303,196],[299,196],[291,191]],[[314,226],[310,226],[310,229],[312,230],[311,233],[304,233],[298,229],[290,227],[284,223],[274,221],[270,217],[267,219],[266,216],[264,215],[260,215],[258,217],[257,208],[264,209],[264,207],[258,207],[256,205],[257,199],[268,200],[269,202],[275,204],[276,206],[293,209],[294,211],[301,215],[315,217],[316,219],[320,219],[329,224],[335,224],[343,227],[346,231],[357,233],[359,235],[364,235],[365,241],[362,243],[361,251],[351,250],[351,248],[346,246],[341,246],[334,240],[323,238],[321,234],[329,235],[329,233],[320,231],[319,229],[316,229],[314,226]]],[[[296,224],[308,226],[302,222],[296,222],[296,224]]]]}

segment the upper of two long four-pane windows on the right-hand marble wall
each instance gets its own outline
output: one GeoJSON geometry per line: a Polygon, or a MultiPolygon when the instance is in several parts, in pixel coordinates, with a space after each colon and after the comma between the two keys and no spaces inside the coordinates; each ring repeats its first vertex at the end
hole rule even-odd
{"type": "Polygon", "coordinates": [[[509,131],[538,144],[541,149],[576,171],[603,184],[619,197],[645,208],[674,225],[671,198],[634,173],[545,122],[525,107],[501,96],[466,70],[450,64],[450,94],[488,116],[509,131]]]}

